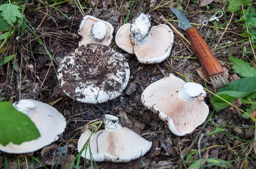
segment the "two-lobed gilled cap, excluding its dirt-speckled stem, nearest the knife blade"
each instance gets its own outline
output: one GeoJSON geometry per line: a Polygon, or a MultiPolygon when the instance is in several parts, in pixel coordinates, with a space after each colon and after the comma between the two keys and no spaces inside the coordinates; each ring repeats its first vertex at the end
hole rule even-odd
{"type": "Polygon", "coordinates": [[[174,35],[167,25],[153,26],[150,30],[150,40],[147,44],[137,46],[131,40],[130,23],[122,25],[116,33],[116,45],[129,54],[135,54],[140,63],[160,63],[166,59],[172,50],[174,35]],[[133,50],[133,51],[132,51],[133,50]]]}

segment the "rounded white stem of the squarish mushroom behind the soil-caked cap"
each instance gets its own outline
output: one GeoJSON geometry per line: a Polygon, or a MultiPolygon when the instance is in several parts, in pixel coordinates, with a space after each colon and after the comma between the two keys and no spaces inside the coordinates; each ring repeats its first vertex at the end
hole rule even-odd
{"type": "Polygon", "coordinates": [[[107,33],[107,27],[103,22],[93,23],[89,31],[89,37],[93,42],[102,42],[107,33]]]}

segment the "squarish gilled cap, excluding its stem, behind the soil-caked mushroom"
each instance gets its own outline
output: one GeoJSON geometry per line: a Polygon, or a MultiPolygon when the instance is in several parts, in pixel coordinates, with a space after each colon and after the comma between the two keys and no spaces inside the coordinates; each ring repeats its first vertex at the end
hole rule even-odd
{"type": "Polygon", "coordinates": [[[78,34],[82,36],[81,41],[79,41],[79,46],[84,45],[84,44],[89,44],[89,43],[109,46],[113,39],[113,31],[114,31],[114,28],[111,25],[111,23],[104,21],[104,20],[100,20],[96,17],[92,17],[90,15],[86,15],[81,20],[81,24],[80,24],[79,30],[78,30],[78,34]],[[97,22],[105,23],[105,25],[107,27],[106,36],[102,42],[94,42],[89,37],[90,28],[92,27],[93,23],[97,23],[97,22]]]}

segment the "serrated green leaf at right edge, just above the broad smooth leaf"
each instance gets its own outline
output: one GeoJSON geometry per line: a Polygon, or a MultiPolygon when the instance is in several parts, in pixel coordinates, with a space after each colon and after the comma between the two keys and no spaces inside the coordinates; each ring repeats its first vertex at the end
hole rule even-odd
{"type": "Polygon", "coordinates": [[[243,59],[229,57],[232,68],[235,73],[238,73],[242,77],[253,77],[256,76],[256,68],[252,67],[248,62],[243,59]]]}

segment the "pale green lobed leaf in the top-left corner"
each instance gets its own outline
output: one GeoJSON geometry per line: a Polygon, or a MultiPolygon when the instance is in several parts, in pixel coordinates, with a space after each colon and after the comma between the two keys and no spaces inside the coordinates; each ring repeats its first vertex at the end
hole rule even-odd
{"type": "Polygon", "coordinates": [[[19,8],[19,6],[12,3],[2,4],[0,6],[0,11],[2,11],[1,16],[7,21],[7,23],[13,26],[13,23],[16,21],[16,17],[21,18],[21,13],[18,10],[19,8]]]}

